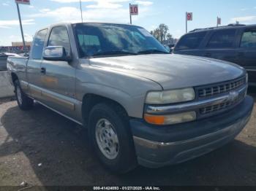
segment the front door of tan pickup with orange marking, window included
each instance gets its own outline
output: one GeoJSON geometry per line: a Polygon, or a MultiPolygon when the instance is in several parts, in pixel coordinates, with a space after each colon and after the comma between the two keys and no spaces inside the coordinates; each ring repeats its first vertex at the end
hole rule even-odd
{"type": "MultiPolygon", "coordinates": [[[[56,26],[50,31],[48,46],[62,46],[67,55],[72,54],[66,26],[56,26]]],[[[75,67],[67,61],[42,61],[41,73],[43,104],[62,114],[75,114],[75,67]]]]}

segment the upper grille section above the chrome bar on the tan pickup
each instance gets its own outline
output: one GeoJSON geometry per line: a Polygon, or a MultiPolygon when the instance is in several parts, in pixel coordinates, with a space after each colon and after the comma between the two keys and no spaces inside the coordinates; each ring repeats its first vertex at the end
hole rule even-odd
{"type": "Polygon", "coordinates": [[[235,90],[246,83],[245,77],[242,79],[235,79],[230,82],[221,83],[219,85],[212,85],[208,87],[202,87],[198,89],[199,98],[205,98],[212,95],[218,95],[221,93],[227,93],[231,90],[235,90]]]}

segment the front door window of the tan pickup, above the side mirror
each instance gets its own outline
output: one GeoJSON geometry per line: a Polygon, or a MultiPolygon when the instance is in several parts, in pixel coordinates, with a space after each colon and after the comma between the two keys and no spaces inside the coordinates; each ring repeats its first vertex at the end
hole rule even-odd
{"type": "Polygon", "coordinates": [[[69,36],[67,34],[67,28],[64,26],[57,26],[50,32],[48,40],[48,46],[61,46],[66,50],[67,55],[70,53],[69,36]]]}

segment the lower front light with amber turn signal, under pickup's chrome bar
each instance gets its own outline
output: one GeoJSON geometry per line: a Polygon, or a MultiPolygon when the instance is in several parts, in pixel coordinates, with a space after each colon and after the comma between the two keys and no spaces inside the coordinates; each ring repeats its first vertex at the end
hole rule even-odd
{"type": "Polygon", "coordinates": [[[196,120],[196,112],[184,112],[180,114],[168,114],[168,115],[152,115],[144,114],[146,122],[154,125],[172,125],[181,122],[189,122],[196,120]]]}

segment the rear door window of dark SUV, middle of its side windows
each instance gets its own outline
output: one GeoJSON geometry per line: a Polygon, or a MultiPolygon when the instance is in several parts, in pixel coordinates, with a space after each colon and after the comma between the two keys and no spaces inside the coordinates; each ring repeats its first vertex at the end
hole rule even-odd
{"type": "Polygon", "coordinates": [[[235,41],[236,30],[216,31],[207,44],[208,48],[230,48],[235,41]]]}

